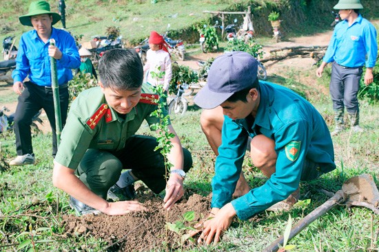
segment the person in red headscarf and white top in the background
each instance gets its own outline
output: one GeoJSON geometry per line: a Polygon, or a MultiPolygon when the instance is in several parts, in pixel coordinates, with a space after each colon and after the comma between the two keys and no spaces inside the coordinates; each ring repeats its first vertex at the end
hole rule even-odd
{"type": "Polygon", "coordinates": [[[143,67],[143,71],[147,73],[146,82],[154,87],[163,85],[163,89],[167,93],[172,78],[171,56],[167,50],[168,45],[163,39],[163,36],[152,31],[149,37],[149,46],[150,49],[147,50],[146,54],[147,61],[143,67]],[[156,78],[152,76],[152,72],[165,72],[165,75],[156,80],[156,78]]]}

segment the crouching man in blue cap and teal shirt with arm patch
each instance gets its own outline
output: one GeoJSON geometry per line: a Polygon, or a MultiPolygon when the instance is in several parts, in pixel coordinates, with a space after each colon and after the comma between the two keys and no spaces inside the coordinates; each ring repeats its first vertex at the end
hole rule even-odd
{"type": "Polygon", "coordinates": [[[333,143],[320,113],[293,91],[258,81],[257,69],[258,61],[246,52],[218,56],[207,84],[194,98],[206,110],[220,106],[224,115],[212,179],[213,218],[198,225],[199,242],[218,242],[234,216],[247,220],[280,201],[284,204],[300,181],[336,169],[333,143]],[[232,201],[249,137],[252,162],[269,179],[232,201]]]}

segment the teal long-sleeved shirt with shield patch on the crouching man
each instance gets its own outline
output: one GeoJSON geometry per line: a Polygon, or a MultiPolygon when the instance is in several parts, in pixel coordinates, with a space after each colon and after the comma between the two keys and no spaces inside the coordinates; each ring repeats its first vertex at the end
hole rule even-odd
{"type": "Polygon", "coordinates": [[[242,220],[283,201],[294,192],[305,159],[319,163],[323,173],[336,168],[330,133],[316,108],[285,87],[259,82],[260,103],[254,122],[225,116],[216,174],[212,180],[212,207],[221,208],[232,200],[247,137],[263,134],[274,139],[278,155],[276,172],[264,185],[232,201],[238,218],[242,220]]]}

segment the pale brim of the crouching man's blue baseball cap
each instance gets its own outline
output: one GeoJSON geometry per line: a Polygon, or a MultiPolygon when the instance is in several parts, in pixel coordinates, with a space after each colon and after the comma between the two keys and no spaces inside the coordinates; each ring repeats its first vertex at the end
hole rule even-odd
{"type": "Polygon", "coordinates": [[[225,102],[233,94],[234,93],[216,93],[210,90],[208,85],[205,85],[205,87],[196,94],[194,102],[201,108],[212,109],[225,102]]]}

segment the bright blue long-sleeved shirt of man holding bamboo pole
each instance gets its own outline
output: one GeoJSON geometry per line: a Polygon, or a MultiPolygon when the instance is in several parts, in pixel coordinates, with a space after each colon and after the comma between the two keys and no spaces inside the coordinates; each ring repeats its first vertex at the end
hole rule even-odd
{"type": "MultiPolygon", "coordinates": [[[[79,51],[74,38],[64,30],[52,27],[50,38],[54,38],[56,46],[62,52],[62,58],[57,60],[58,84],[67,83],[72,79],[71,69],[80,66],[79,51]]],[[[16,69],[12,72],[14,82],[29,80],[39,86],[51,87],[51,65],[48,47],[50,41],[43,43],[36,30],[22,34],[19,51],[16,58],[16,69]]]]}

